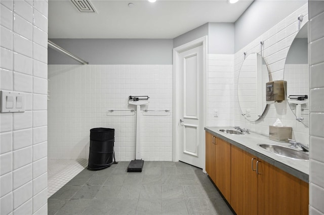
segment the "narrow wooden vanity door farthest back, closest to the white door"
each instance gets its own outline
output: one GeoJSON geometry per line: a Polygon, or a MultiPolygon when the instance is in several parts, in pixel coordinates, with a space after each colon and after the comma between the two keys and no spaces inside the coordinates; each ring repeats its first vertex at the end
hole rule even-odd
{"type": "Polygon", "coordinates": [[[206,132],[206,172],[215,183],[215,144],[211,133],[206,132]]]}

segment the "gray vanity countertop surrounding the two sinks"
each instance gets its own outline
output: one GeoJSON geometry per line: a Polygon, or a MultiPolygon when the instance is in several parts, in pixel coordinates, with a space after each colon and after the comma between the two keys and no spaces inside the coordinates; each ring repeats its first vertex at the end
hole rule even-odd
{"type": "Polygon", "coordinates": [[[269,164],[308,183],[308,160],[296,160],[292,158],[282,157],[257,146],[257,144],[260,143],[289,146],[290,143],[270,140],[269,136],[254,132],[250,132],[250,134],[245,133],[244,135],[233,135],[220,132],[219,129],[235,130],[233,127],[205,127],[205,130],[209,133],[231,143],[232,145],[237,146],[240,149],[249,152],[250,154],[258,156],[259,158],[265,160],[269,164]]]}

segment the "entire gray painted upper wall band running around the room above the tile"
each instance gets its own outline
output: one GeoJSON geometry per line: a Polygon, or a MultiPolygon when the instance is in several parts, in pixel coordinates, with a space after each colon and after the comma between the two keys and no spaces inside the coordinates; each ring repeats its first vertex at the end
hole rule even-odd
{"type": "MultiPolygon", "coordinates": [[[[90,64],[172,64],[172,48],[209,36],[209,53],[232,54],[306,4],[256,0],[233,23],[206,23],[174,39],[51,39],[90,64]]],[[[48,64],[78,64],[51,48],[48,64]]]]}

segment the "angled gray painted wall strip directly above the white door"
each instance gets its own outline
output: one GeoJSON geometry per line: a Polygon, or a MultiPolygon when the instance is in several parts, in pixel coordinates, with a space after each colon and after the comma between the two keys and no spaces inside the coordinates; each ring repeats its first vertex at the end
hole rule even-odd
{"type": "Polygon", "coordinates": [[[208,35],[208,23],[201,25],[187,33],[173,39],[173,47],[178,47],[192,40],[208,35]]]}

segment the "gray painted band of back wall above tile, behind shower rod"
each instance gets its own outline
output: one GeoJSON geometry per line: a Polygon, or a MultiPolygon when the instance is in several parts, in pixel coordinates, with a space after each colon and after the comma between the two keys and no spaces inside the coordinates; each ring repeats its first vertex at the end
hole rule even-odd
{"type": "MultiPolygon", "coordinates": [[[[50,39],[90,64],[171,65],[172,39],[50,39]]],[[[48,64],[78,64],[48,49],[48,64]]]]}

